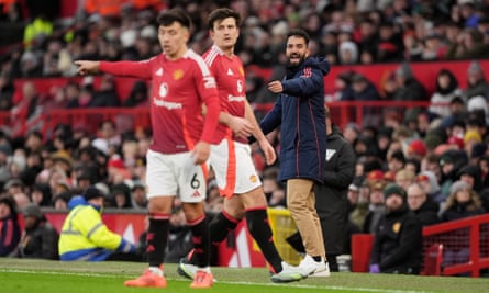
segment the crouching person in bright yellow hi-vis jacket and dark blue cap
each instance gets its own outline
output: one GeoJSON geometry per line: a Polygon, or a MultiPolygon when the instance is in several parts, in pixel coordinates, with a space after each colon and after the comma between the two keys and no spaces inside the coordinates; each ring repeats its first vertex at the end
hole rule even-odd
{"type": "Polygon", "coordinates": [[[135,247],[103,224],[99,206],[82,196],[68,203],[70,209],[59,236],[60,260],[105,260],[113,251],[134,252],[135,247]]]}

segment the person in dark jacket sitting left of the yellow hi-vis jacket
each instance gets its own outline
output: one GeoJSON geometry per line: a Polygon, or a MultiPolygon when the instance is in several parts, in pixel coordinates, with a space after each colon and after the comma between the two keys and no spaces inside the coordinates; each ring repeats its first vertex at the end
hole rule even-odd
{"type": "Polygon", "coordinates": [[[16,248],[18,258],[58,259],[59,235],[34,203],[24,209],[25,228],[16,248]]]}

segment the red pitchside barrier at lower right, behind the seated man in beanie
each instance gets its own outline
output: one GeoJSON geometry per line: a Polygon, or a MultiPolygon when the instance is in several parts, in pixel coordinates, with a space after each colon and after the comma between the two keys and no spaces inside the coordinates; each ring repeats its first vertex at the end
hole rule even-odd
{"type": "MultiPolygon", "coordinates": [[[[352,237],[352,271],[368,272],[374,236],[352,237]]],[[[489,270],[489,214],[423,228],[425,275],[480,277],[489,270]]]]}

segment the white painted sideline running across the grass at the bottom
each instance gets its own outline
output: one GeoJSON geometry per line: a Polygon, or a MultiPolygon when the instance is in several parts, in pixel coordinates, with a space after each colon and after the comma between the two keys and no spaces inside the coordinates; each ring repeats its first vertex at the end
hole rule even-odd
{"type": "MultiPolygon", "coordinates": [[[[30,274],[62,274],[62,275],[81,275],[81,277],[103,277],[103,278],[121,278],[122,275],[118,274],[102,274],[102,273],[86,273],[86,272],[54,272],[54,271],[30,271],[30,270],[15,270],[15,269],[0,269],[0,272],[15,272],[15,273],[30,273],[30,274]]],[[[184,279],[173,279],[167,278],[167,280],[171,281],[180,281],[188,282],[188,280],[184,279]]],[[[218,281],[216,283],[223,284],[244,284],[244,285],[254,285],[254,286],[289,286],[290,284],[284,283],[252,283],[244,281],[218,281]]],[[[371,289],[371,288],[349,288],[349,286],[319,286],[319,285],[301,285],[294,284],[294,288],[301,289],[327,289],[327,290],[355,290],[355,291],[365,291],[365,292],[379,292],[379,293],[433,293],[432,291],[412,291],[412,290],[387,290],[387,289],[371,289]]]]}

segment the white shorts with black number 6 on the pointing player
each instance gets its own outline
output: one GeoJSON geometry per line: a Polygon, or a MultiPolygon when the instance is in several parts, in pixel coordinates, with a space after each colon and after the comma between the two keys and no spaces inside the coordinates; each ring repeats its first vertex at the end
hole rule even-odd
{"type": "Polygon", "coordinates": [[[205,199],[208,166],[193,165],[191,153],[165,155],[148,149],[146,154],[147,198],[179,196],[195,203],[205,199]]]}

